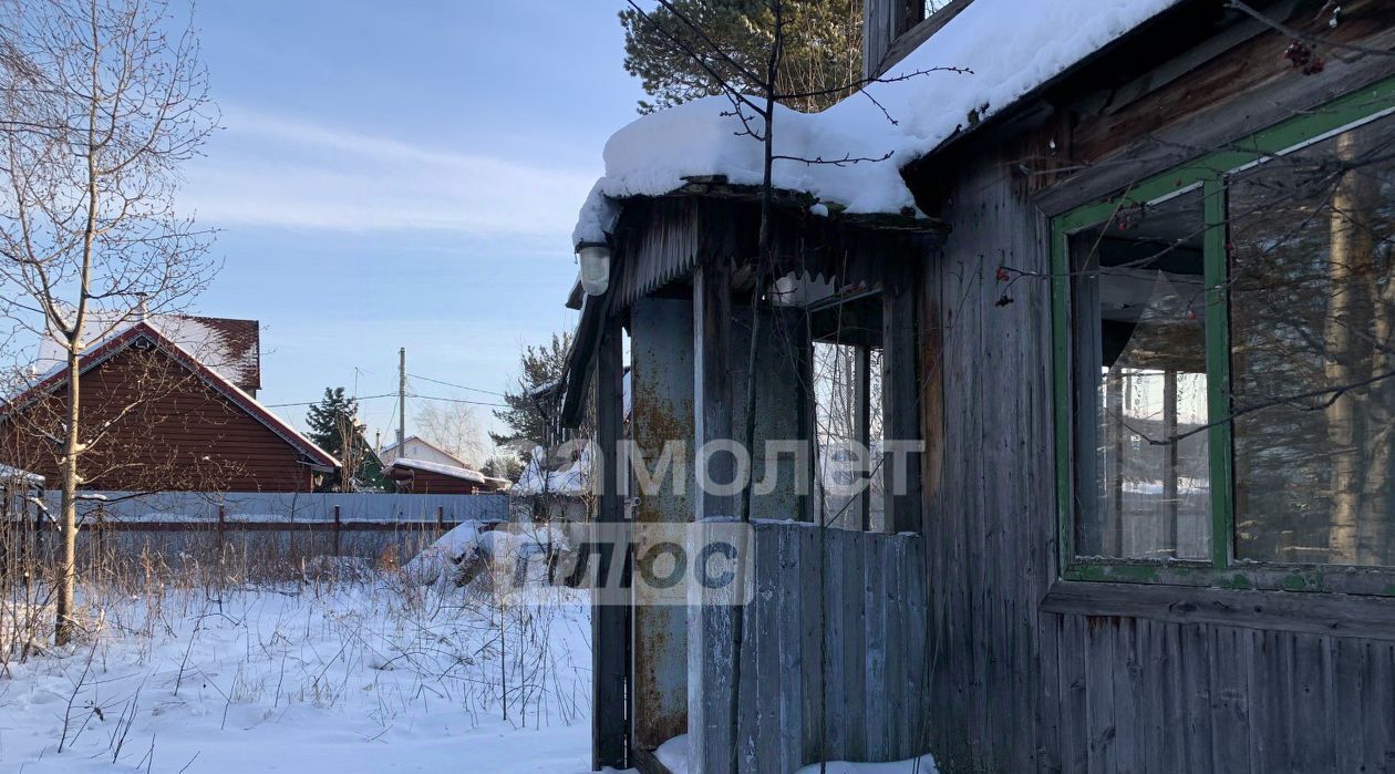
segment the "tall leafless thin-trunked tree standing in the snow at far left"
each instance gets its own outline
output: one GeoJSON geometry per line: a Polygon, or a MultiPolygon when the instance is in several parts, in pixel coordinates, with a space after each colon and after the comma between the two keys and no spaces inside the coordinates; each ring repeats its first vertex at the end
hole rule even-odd
{"type": "Polygon", "coordinates": [[[93,430],[81,364],[93,340],[169,311],[209,276],[209,233],[174,208],[180,165],[216,114],[191,22],[160,0],[0,6],[0,312],[63,347],[59,644],[74,633],[77,492],[93,430]]]}

